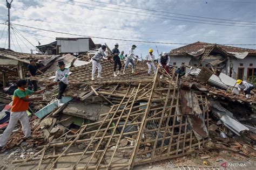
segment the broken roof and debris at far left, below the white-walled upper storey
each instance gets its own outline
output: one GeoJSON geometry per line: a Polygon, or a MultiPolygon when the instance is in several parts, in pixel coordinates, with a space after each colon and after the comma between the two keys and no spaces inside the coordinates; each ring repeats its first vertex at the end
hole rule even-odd
{"type": "Polygon", "coordinates": [[[0,82],[3,83],[2,86],[6,87],[9,83],[28,77],[26,70],[32,59],[36,61],[38,69],[46,73],[56,71],[58,68],[57,62],[60,60],[66,63],[67,68],[73,65],[76,67],[88,63],[85,61],[76,61],[77,58],[71,54],[63,56],[28,54],[0,48],[0,82]]]}

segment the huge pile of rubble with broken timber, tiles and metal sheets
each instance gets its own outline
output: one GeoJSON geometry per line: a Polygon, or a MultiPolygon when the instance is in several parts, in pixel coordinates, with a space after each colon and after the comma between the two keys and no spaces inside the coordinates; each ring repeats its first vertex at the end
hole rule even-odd
{"type": "MultiPolygon", "coordinates": [[[[16,168],[31,162],[37,169],[133,168],[206,150],[255,156],[255,96],[235,95],[232,86],[216,86],[212,77],[202,81],[193,71],[178,77],[174,69],[166,73],[158,67],[148,75],[142,61],[136,61],[136,74],[129,68],[117,77],[111,61],[102,67],[104,78],[96,81],[91,81],[91,64],[70,67],[62,107],[55,100],[57,87],[31,103],[33,138],[25,141],[18,128],[6,145],[22,146],[26,153],[12,161],[16,168]]],[[[30,79],[47,86],[54,75],[30,79]]],[[[2,113],[8,110],[5,105],[2,113]]]]}

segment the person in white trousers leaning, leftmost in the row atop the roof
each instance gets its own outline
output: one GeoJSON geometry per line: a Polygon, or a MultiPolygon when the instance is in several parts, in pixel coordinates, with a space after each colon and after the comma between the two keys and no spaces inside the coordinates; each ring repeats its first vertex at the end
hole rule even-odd
{"type": "Polygon", "coordinates": [[[95,80],[94,75],[96,72],[96,68],[98,68],[98,76],[97,78],[102,78],[102,65],[100,65],[100,61],[102,59],[107,60],[107,56],[105,54],[106,46],[103,45],[101,49],[92,57],[92,81],[95,80]]]}

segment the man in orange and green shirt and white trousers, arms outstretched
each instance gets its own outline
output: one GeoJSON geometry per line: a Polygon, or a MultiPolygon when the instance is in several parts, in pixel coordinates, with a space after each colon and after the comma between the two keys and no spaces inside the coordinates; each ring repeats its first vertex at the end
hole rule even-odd
{"type": "Polygon", "coordinates": [[[40,94],[45,89],[39,91],[26,89],[26,87],[28,87],[26,80],[19,80],[17,82],[17,86],[18,89],[14,91],[12,100],[10,121],[0,139],[0,147],[5,146],[18,121],[20,121],[22,124],[23,133],[25,134],[24,139],[30,138],[31,130],[29,125],[29,117],[26,110],[29,109],[29,102],[43,99],[43,97],[29,98],[29,95],[40,94]]]}

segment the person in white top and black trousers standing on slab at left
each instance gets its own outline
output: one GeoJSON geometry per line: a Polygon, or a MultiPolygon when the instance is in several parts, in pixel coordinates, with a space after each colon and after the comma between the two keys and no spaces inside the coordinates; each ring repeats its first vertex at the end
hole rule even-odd
{"type": "Polygon", "coordinates": [[[58,107],[62,107],[64,103],[62,103],[62,95],[68,87],[69,81],[68,81],[68,75],[69,75],[69,69],[65,68],[64,61],[58,62],[59,69],[56,71],[55,79],[53,80],[56,82],[56,84],[59,84],[59,94],[58,94],[58,107]]]}

